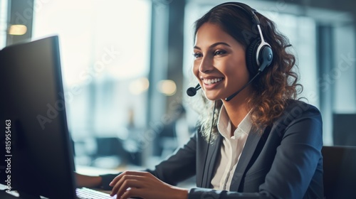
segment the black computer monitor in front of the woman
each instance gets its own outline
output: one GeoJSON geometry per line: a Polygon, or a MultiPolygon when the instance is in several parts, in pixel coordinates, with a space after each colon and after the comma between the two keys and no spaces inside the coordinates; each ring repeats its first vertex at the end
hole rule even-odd
{"type": "Polygon", "coordinates": [[[0,51],[0,177],[22,198],[75,198],[58,36],[0,51]]]}

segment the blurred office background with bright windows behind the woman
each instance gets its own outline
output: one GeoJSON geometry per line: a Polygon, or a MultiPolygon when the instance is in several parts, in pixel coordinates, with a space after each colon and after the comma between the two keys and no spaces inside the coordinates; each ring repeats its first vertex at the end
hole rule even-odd
{"type": "MultiPolygon", "coordinates": [[[[0,0],[0,48],[58,35],[75,163],[152,166],[194,132],[193,23],[222,2],[0,0]]],[[[324,144],[356,146],[356,2],[241,2],[290,38],[324,144]]]]}

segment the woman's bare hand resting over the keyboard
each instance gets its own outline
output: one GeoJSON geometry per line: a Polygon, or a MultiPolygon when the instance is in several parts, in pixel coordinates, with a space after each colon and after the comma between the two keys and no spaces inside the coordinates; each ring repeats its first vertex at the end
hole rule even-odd
{"type": "Polygon", "coordinates": [[[140,197],[145,199],[159,198],[188,198],[188,190],[177,188],[160,181],[151,173],[142,171],[125,171],[114,178],[110,183],[112,186],[111,196],[117,198],[140,197]]]}

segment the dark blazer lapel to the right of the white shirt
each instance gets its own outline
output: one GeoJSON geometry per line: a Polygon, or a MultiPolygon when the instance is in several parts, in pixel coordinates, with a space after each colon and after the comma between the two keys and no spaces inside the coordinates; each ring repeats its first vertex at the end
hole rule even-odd
{"type": "Polygon", "coordinates": [[[231,191],[238,191],[239,186],[241,183],[242,176],[246,173],[246,168],[248,163],[253,156],[254,151],[256,150],[256,146],[258,141],[261,139],[261,134],[258,134],[256,130],[251,129],[250,133],[248,134],[246,144],[244,149],[242,150],[239,163],[236,166],[236,170],[234,172],[234,176],[231,181],[230,190],[231,191]]]}

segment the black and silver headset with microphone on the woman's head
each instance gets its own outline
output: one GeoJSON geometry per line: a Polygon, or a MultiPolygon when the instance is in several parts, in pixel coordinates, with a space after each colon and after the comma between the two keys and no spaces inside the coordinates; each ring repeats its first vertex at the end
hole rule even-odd
{"type": "MultiPolygon", "coordinates": [[[[226,98],[226,101],[230,101],[232,98],[234,98],[241,90],[244,90],[245,87],[251,84],[255,78],[260,75],[265,68],[267,68],[269,65],[271,65],[272,60],[273,60],[273,50],[271,48],[271,45],[269,45],[263,38],[263,33],[261,30],[261,23],[260,20],[258,19],[258,16],[256,16],[256,10],[252,9],[250,6],[240,3],[240,2],[227,2],[224,4],[219,4],[218,6],[215,6],[213,9],[217,9],[221,6],[235,6],[239,8],[241,11],[244,11],[248,16],[251,16],[251,21],[253,24],[255,24],[258,28],[258,38],[254,38],[253,41],[247,46],[246,48],[246,65],[248,72],[251,75],[251,80],[249,80],[246,85],[241,87],[240,90],[235,92],[233,95],[229,96],[226,98]]],[[[196,87],[189,87],[187,90],[187,95],[189,96],[194,96],[197,94],[197,90],[199,90],[201,86],[198,84],[196,87]]]]}

